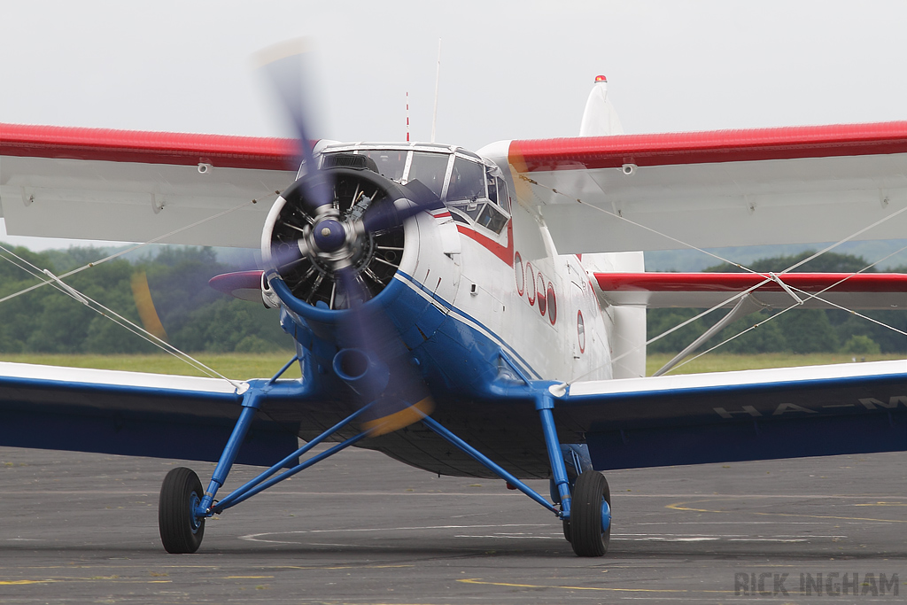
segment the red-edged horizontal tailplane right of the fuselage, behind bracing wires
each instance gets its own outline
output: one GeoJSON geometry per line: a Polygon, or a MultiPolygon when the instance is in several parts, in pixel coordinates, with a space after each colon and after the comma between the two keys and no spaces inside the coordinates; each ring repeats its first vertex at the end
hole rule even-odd
{"type": "Polygon", "coordinates": [[[733,307],[736,293],[766,308],[786,308],[804,301],[805,308],[890,309],[907,307],[907,274],[785,273],[595,273],[601,297],[614,306],[649,308],[733,307]],[[790,292],[785,289],[790,288],[790,292]],[[810,298],[810,297],[815,298],[810,298]],[[821,299],[820,299],[821,298],[821,299]],[[824,300],[823,300],[824,299],[824,300]],[[828,302],[824,302],[827,300],[828,302]],[[829,303],[834,303],[829,304],[829,303]]]}

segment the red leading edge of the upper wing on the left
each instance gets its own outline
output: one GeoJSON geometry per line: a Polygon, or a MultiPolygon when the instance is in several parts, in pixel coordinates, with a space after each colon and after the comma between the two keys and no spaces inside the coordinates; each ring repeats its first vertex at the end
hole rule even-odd
{"type": "Polygon", "coordinates": [[[297,141],[0,123],[0,155],[295,171],[297,141]]]}

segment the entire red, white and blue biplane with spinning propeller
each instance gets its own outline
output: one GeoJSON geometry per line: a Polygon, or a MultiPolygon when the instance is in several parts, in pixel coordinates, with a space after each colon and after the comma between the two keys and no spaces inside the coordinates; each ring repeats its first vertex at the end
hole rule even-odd
{"type": "Polygon", "coordinates": [[[601,471],[907,450],[904,361],[644,377],[647,307],[903,307],[907,276],[645,273],[640,251],[900,239],[907,122],[623,135],[606,85],[580,137],[478,152],[308,144],[301,114],[296,141],[0,124],[10,234],[260,246],[212,285],[296,341],[241,383],[2,363],[0,444],[218,461],[207,488],[164,479],[170,552],[356,445],[500,477],[580,556],[608,547],[601,471]],[[234,463],[269,469],[218,500],[234,463]]]}

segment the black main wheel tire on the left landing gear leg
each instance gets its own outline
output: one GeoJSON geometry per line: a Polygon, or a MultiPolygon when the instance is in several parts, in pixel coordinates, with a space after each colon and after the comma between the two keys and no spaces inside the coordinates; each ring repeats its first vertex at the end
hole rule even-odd
{"type": "Polygon", "coordinates": [[[205,520],[196,519],[195,507],[201,500],[199,475],[177,467],[164,477],[158,501],[158,530],[164,550],[188,554],[199,550],[205,535],[205,520]]]}

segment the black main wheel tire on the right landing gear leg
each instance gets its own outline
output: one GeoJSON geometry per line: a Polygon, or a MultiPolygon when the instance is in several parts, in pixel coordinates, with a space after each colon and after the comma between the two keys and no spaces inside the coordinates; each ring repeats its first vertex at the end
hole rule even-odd
{"type": "Polygon", "coordinates": [[[570,542],[580,557],[600,557],[608,551],[611,526],[601,530],[603,503],[610,507],[611,492],[604,476],[598,471],[580,473],[573,488],[570,511],[570,542]]]}

